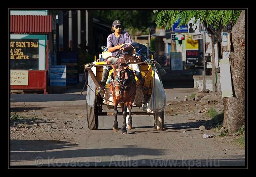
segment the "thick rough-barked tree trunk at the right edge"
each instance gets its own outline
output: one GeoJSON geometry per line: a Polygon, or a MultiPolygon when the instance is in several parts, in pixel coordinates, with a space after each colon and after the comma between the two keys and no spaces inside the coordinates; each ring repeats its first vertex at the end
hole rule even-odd
{"type": "Polygon", "coordinates": [[[223,122],[230,133],[245,125],[245,11],[233,26],[231,37],[230,69],[234,97],[224,98],[223,122]]]}

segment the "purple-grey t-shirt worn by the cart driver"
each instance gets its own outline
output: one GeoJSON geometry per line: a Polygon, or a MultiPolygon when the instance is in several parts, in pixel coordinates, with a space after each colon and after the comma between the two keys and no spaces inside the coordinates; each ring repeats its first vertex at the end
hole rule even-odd
{"type": "MultiPolygon", "coordinates": [[[[121,36],[120,37],[116,37],[115,33],[113,32],[112,34],[110,34],[108,36],[107,39],[107,48],[109,47],[114,47],[118,44],[125,44],[125,43],[132,43],[131,41],[131,36],[128,32],[121,32],[121,36]]],[[[127,47],[127,44],[124,45],[124,47],[127,47]]],[[[115,51],[111,52],[112,56],[116,56],[118,53],[118,49],[116,49],[115,51]]],[[[124,52],[124,54],[128,54],[128,52],[124,52]]],[[[122,56],[122,53],[119,53],[119,56],[122,56]]],[[[117,56],[117,57],[119,57],[117,56]]]]}

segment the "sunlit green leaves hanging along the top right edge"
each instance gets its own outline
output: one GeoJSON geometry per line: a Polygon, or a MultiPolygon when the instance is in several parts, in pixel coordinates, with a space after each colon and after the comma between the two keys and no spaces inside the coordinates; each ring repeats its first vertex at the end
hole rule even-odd
{"type": "Polygon", "coordinates": [[[241,13],[241,10],[161,10],[153,11],[157,14],[157,28],[165,26],[165,29],[171,29],[175,21],[180,17],[180,24],[186,25],[188,21],[195,18],[194,23],[200,19],[207,26],[213,25],[217,29],[220,24],[227,26],[228,23],[234,25],[241,13]]]}

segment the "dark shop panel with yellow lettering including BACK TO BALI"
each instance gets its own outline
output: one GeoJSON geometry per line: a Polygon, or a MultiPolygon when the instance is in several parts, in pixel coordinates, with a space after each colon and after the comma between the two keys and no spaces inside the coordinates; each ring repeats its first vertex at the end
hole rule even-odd
{"type": "Polygon", "coordinates": [[[38,70],[38,39],[10,39],[10,69],[38,70]]]}

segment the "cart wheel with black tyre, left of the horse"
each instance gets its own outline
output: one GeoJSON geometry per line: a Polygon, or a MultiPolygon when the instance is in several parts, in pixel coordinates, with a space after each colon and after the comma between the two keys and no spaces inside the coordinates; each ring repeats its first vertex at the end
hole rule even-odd
{"type": "Polygon", "coordinates": [[[99,127],[98,107],[97,107],[97,105],[95,107],[91,107],[91,106],[88,105],[88,103],[86,101],[86,112],[87,112],[88,128],[90,130],[97,130],[98,127],[99,127]]]}

